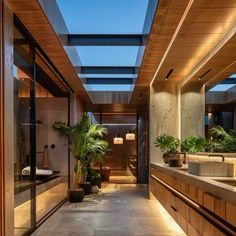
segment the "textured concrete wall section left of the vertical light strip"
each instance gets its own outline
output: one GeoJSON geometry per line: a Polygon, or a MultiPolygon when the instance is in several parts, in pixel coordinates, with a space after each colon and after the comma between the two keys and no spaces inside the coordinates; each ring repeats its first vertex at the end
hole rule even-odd
{"type": "Polygon", "coordinates": [[[179,137],[179,92],[175,85],[157,84],[150,88],[150,162],[162,163],[162,153],[153,144],[156,137],[179,137]]]}

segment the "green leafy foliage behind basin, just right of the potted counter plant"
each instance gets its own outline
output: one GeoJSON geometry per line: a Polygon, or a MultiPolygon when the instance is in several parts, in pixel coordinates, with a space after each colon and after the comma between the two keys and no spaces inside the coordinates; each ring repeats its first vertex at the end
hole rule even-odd
{"type": "Polygon", "coordinates": [[[203,137],[189,136],[181,143],[182,152],[202,152],[205,150],[206,139],[203,137]]]}

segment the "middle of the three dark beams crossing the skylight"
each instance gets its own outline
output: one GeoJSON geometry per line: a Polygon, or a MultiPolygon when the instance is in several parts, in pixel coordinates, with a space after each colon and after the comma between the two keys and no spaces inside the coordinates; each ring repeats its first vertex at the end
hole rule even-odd
{"type": "Polygon", "coordinates": [[[75,67],[78,74],[136,74],[134,66],[82,66],[75,67]]]}

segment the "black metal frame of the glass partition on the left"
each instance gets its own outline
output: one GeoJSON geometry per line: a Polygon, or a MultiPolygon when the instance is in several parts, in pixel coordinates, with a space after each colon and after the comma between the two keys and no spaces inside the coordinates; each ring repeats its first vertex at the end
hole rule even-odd
{"type": "MultiPolygon", "coordinates": [[[[44,62],[49,66],[49,68],[54,72],[54,74],[59,78],[59,80],[63,83],[64,87],[67,90],[67,94],[64,94],[65,97],[68,98],[68,122],[70,122],[70,93],[73,92],[71,87],[68,85],[68,83],[64,80],[64,78],[60,75],[60,73],[57,71],[57,69],[54,67],[52,62],[49,60],[49,58],[45,55],[45,53],[42,51],[42,49],[39,47],[39,45],[35,42],[35,40],[32,38],[32,36],[29,34],[29,32],[24,28],[22,23],[17,19],[16,16],[14,16],[14,27],[19,30],[22,35],[27,39],[28,44],[31,46],[31,52],[32,53],[32,78],[30,80],[30,168],[31,168],[31,180],[33,183],[36,181],[36,97],[35,97],[35,82],[37,81],[37,68],[35,62],[35,56],[36,54],[40,56],[44,60],[44,62]]],[[[62,96],[62,94],[60,93],[62,96]]],[[[69,153],[68,153],[69,154],[69,153]]],[[[70,163],[70,157],[68,155],[68,164],[70,163]]],[[[68,165],[68,187],[70,187],[70,165],[68,165]]],[[[50,217],[66,200],[63,199],[61,202],[58,203],[57,206],[55,206],[53,209],[51,209],[45,216],[43,216],[38,222],[36,219],[36,184],[32,184],[29,188],[30,191],[30,218],[31,218],[31,228],[29,228],[24,235],[29,235],[32,233],[40,224],[42,224],[48,217],[50,217]]]]}

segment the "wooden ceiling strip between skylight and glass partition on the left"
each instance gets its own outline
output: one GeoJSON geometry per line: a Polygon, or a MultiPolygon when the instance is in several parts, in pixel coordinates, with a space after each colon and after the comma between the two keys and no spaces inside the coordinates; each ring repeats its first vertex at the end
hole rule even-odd
{"type": "Polygon", "coordinates": [[[84,102],[90,103],[89,96],[38,1],[8,0],[8,3],[72,89],[84,102]]]}

